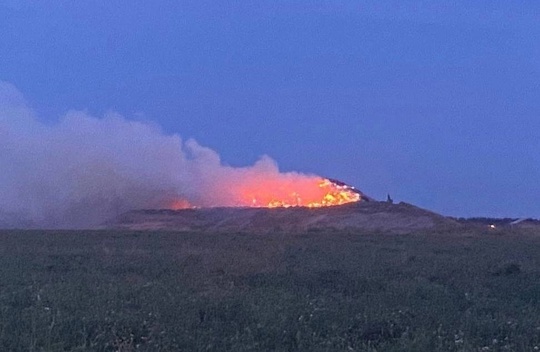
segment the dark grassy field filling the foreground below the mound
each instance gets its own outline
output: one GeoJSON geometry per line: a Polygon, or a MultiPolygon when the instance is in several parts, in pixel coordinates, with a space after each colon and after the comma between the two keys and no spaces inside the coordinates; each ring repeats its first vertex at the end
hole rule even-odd
{"type": "Polygon", "coordinates": [[[0,351],[535,351],[540,238],[0,232],[0,351]]]}

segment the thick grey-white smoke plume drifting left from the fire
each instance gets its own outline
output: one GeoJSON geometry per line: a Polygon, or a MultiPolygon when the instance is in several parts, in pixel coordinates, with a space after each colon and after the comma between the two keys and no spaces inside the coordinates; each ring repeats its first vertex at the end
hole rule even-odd
{"type": "Polygon", "coordinates": [[[0,82],[0,227],[92,227],[178,198],[237,205],[227,185],[261,175],[311,177],[279,173],[269,157],[251,167],[225,166],[194,140],[118,114],[75,111],[45,124],[15,87],[0,82]]]}

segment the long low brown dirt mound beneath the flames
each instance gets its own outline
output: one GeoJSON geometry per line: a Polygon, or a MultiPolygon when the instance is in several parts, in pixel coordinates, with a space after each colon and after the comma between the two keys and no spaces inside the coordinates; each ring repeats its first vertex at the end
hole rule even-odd
{"type": "Polygon", "coordinates": [[[457,222],[410,204],[360,202],[327,208],[138,210],[108,225],[132,230],[304,232],[361,229],[410,233],[457,222]]]}

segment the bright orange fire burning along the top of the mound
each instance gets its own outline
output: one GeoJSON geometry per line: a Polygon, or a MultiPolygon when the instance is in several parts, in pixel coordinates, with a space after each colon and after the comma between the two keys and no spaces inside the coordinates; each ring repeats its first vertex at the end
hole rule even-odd
{"type": "MultiPolygon", "coordinates": [[[[177,200],[171,209],[195,207],[254,207],[254,208],[321,208],[363,200],[362,193],[342,182],[320,178],[302,177],[284,180],[280,178],[257,178],[250,182],[229,184],[214,193],[215,201],[192,204],[177,200]]],[[[367,199],[366,199],[367,200],[367,199]]]]}

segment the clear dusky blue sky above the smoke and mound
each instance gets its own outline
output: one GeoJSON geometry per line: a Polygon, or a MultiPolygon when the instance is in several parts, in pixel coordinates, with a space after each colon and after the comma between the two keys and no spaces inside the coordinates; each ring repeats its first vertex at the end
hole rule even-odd
{"type": "Polygon", "coordinates": [[[114,112],[230,166],[540,218],[537,1],[0,0],[0,33],[43,123],[114,112]]]}

